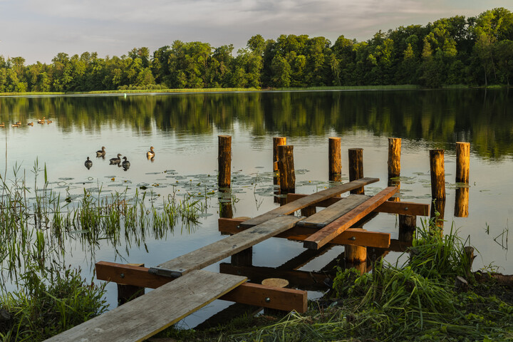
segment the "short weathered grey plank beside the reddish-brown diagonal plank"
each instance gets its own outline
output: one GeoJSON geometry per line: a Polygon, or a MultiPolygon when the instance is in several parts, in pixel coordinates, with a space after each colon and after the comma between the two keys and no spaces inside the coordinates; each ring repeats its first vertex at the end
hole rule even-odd
{"type": "Polygon", "coordinates": [[[297,223],[299,227],[314,227],[314,228],[322,228],[331,222],[338,219],[348,212],[351,212],[354,208],[358,207],[358,205],[366,202],[370,197],[366,195],[349,195],[348,197],[341,198],[340,201],[331,204],[326,209],[321,210],[320,212],[311,215],[310,217],[306,217],[306,219],[301,220],[297,223]]]}

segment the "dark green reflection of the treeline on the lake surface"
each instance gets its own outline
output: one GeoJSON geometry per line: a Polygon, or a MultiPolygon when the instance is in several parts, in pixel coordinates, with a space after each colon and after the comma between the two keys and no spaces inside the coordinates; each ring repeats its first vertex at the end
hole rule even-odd
{"type": "MultiPolygon", "coordinates": [[[[482,157],[513,155],[513,94],[493,90],[389,90],[199,93],[155,96],[1,98],[0,120],[26,123],[51,115],[63,133],[105,124],[130,125],[138,134],[230,131],[235,120],[253,135],[338,135],[371,130],[452,149],[465,140],[482,157]],[[448,145],[445,145],[448,144],[448,145]]],[[[51,120],[46,121],[51,122],[51,120]]],[[[21,125],[19,129],[28,129],[21,125]]]]}

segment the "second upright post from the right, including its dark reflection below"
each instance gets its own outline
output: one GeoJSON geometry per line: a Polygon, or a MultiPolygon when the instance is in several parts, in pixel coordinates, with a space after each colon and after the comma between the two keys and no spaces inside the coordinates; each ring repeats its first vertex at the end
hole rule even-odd
{"type": "Polygon", "coordinates": [[[431,172],[431,199],[434,201],[431,206],[430,217],[436,217],[439,213],[437,226],[443,228],[445,213],[445,164],[444,150],[430,150],[430,172],[431,172]]]}

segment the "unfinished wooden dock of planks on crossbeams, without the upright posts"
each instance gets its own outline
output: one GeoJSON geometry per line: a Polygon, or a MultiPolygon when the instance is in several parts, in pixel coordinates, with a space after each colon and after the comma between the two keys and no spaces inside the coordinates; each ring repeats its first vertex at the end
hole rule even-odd
{"type": "MultiPolygon", "coordinates": [[[[227,264],[220,266],[224,273],[202,269],[271,237],[301,241],[305,247],[314,249],[326,244],[390,247],[390,234],[368,232],[352,227],[353,224],[371,212],[427,214],[429,206],[387,201],[397,191],[396,187],[387,187],[375,196],[338,197],[377,181],[377,178],[362,178],[312,195],[291,194],[287,204],[253,219],[219,219],[219,231],[231,236],[157,266],[145,268],[100,261],[96,264],[98,279],[155,290],[47,341],[143,341],[215,299],[304,312],[307,309],[306,291],[249,284],[246,276],[228,273],[289,275],[304,283],[309,279],[321,282],[322,273],[297,271],[297,267],[289,271],[284,267],[280,273],[265,267],[227,264]],[[300,209],[323,206],[326,209],[309,217],[293,215],[300,209]]],[[[315,252],[305,253],[306,259],[316,255],[315,252]]]]}

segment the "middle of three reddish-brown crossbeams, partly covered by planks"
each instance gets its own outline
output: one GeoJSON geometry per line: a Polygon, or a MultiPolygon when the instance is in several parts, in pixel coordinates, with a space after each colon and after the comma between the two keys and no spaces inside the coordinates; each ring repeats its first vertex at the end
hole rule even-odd
{"type": "MultiPolygon", "coordinates": [[[[240,227],[242,219],[219,219],[219,232],[222,234],[237,234],[245,228],[240,227]]],[[[283,239],[304,241],[318,229],[312,227],[293,227],[283,233],[276,235],[283,239]]],[[[390,246],[390,233],[369,232],[358,228],[349,228],[338,237],[333,238],[331,244],[350,244],[352,246],[388,248],[390,246]]]]}

